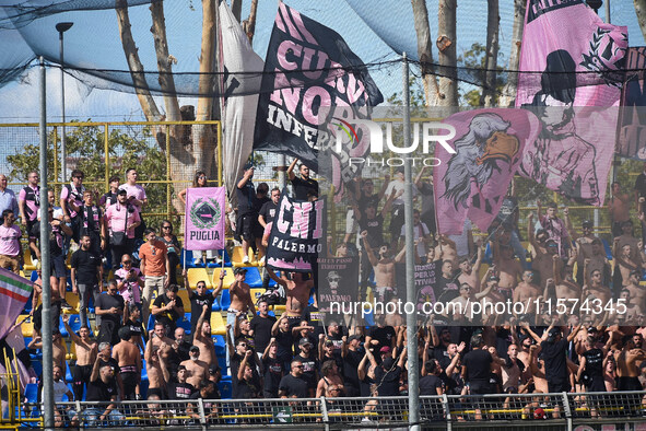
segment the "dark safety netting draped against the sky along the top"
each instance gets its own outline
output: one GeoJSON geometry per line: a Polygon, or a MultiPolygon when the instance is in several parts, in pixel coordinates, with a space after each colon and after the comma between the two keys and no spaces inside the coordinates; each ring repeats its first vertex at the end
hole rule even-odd
{"type": "MultiPolygon", "coordinates": [[[[232,7],[240,3],[240,20],[247,20],[252,2],[239,1],[232,7]]],[[[362,67],[367,68],[387,97],[401,89],[402,53],[407,53],[413,62],[413,73],[419,75],[424,69],[438,77],[456,79],[460,82],[460,94],[466,94],[472,85],[490,85],[498,95],[514,96],[512,93],[515,91],[505,89],[501,83],[518,73],[518,67],[510,61],[514,51],[518,50],[515,40],[517,32],[514,28],[519,24],[519,20],[515,20],[519,10],[515,3],[521,5],[525,1],[500,2],[497,75],[489,84],[485,84],[485,1],[459,2],[456,8],[456,35],[448,39],[438,33],[439,16],[444,13],[443,8],[450,7],[455,1],[290,0],[285,3],[338,32],[362,59],[362,67]],[[424,5],[427,11],[425,20],[428,23],[427,40],[431,42],[431,49],[430,56],[425,55],[422,59],[419,55],[419,28],[415,25],[415,14],[419,15],[419,12],[413,12],[415,3],[418,7],[424,5]],[[439,49],[446,49],[446,44],[456,48],[455,65],[441,63],[438,59],[439,49]]],[[[254,49],[261,58],[266,55],[277,8],[277,1],[258,1],[254,49]]],[[[613,23],[627,26],[630,45],[643,45],[633,1],[612,0],[610,11],[613,23]]],[[[599,13],[604,19],[603,8],[599,13]]],[[[60,67],[59,32],[56,25],[61,22],[73,23],[63,35],[64,70],[89,89],[129,93],[144,89],[153,95],[175,93],[179,96],[223,96],[230,89],[224,85],[200,85],[200,77],[212,74],[218,78],[215,82],[223,82],[227,75],[235,74],[238,79],[259,81],[259,74],[272,73],[218,68],[200,71],[202,3],[198,0],[5,0],[0,7],[0,86],[21,79],[30,69],[37,67],[38,57],[43,57],[48,67],[60,67]],[[164,68],[158,65],[161,60],[155,51],[155,35],[152,31],[156,25],[152,16],[160,10],[167,39],[167,55],[163,59],[167,65],[163,65],[164,68]],[[141,63],[141,70],[137,72],[131,70],[125,55],[128,35],[132,38],[132,53],[137,54],[141,63]],[[173,88],[163,84],[168,73],[173,77],[173,88]]],[[[536,73],[538,77],[544,71],[524,73],[536,73]]],[[[625,75],[595,70],[577,72],[576,85],[607,83],[609,80],[621,83],[625,75]]],[[[293,80],[287,81],[293,84],[293,80]]],[[[259,86],[243,85],[233,95],[259,92],[262,92],[259,86]]]]}

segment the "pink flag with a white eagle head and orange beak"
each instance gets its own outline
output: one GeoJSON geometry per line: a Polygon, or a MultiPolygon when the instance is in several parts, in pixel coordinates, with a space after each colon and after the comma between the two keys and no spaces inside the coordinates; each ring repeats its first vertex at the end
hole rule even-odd
{"type": "Polygon", "coordinates": [[[525,109],[477,109],[454,114],[444,124],[456,135],[450,154],[437,145],[433,184],[437,224],[443,234],[462,232],[467,217],[486,231],[497,215],[503,198],[520,164],[527,142],[539,132],[536,116],[525,109]]]}

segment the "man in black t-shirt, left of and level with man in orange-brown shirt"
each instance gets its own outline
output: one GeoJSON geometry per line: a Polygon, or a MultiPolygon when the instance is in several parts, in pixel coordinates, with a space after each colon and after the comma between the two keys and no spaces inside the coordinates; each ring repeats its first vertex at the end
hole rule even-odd
{"type": "Polygon", "coordinates": [[[96,304],[99,291],[102,290],[103,265],[101,256],[90,249],[91,238],[89,235],[82,235],[81,248],[72,254],[72,292],[79,294],[79,314],[81,322],[87,323],[87,303],[92,295],[93,303],[96,304]]]}

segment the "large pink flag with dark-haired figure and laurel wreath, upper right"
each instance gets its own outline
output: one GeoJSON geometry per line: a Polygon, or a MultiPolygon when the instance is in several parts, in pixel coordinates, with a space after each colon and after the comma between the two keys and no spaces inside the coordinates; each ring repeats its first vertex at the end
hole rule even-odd
{"type": "Polygon", "coordinates": [[[603,23],[583,0],[528,0],[525,23],[516,106],[536,107],[542,132],[520,173],[600,206],[618,117],[600,107],[619,106],[627,28],[603,23]]]}

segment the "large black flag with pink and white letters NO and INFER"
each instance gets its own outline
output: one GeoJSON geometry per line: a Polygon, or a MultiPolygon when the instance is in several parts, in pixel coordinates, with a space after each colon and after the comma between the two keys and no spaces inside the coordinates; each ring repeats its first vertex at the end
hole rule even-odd
{"type": "MultiPolygon", "coordinates": [[[[319,151],[336,144],[321,125],[368,118],[371,106],[383,101],[365,63],[341,35],[280,2],[265,59],[254,149],[290,154],[320,172],[319,151]]],[[[364,143],[362,137],[353,141],[364,143]]],[[[367,145],[362,149],[365,153],[367,145]]]]}

